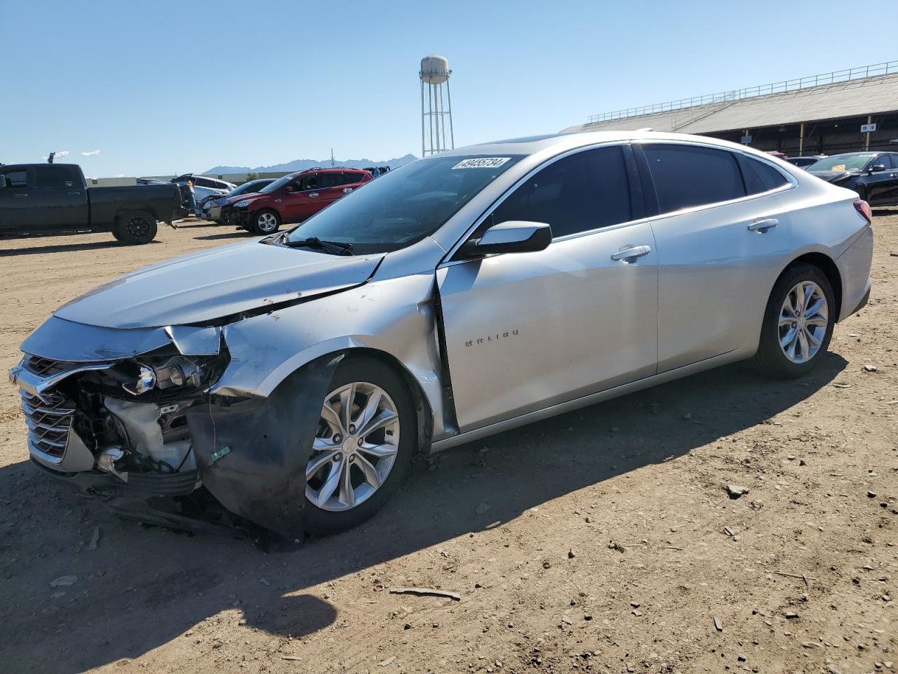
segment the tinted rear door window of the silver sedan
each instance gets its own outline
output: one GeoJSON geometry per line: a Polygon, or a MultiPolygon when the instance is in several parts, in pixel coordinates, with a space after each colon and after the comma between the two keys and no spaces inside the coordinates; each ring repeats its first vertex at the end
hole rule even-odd
{"type": "Polygon", "coordinates": [[[662,213],[745,196],[735,155],[713,147],[645,145],[662,213]]]}

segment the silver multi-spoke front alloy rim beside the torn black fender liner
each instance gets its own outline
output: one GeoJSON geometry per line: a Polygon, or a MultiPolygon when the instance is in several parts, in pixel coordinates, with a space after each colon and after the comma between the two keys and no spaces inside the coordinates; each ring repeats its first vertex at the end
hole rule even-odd
{"type": "Polygon", "coordinates": [[[392,470],[399,435],[399,412],[380,386],[354,382],[332,391],[305,467],[306,499],[339,511],[371,498],[392,470]]]}

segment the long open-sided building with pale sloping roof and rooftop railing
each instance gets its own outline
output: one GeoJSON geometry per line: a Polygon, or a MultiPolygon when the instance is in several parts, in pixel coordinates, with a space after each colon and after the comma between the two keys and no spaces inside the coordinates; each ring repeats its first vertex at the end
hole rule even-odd
{"type": "Polygon", "coordinates": [[[898,61],[607,112],[564,132],[647,127],[788,155],[894,150],[889,141],[898,138],[898,61]]]}

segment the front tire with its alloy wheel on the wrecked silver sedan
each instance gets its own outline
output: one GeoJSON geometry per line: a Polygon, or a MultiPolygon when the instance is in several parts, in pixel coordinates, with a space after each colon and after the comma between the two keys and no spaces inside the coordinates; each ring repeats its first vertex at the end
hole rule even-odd
{"type": "MultiPolygon", "coordinates": [[[[305,524],[308,533],[316,536],[357,527],[380,510],[390,496],[399,489],[408,473],[411,457],[418,443],[418,423],[409,389],[392,368],[379,360],[343,359],[334,372],[329,390],[330,394],[322,401],[318,437],[315,439],[315,446],[310,452],[306,466],[305,524]],[[354,388],[348,389],[353,385],[354,388]],[[387,420],[387,422],[382,428],[367,435],[367,442],[357,444],[351,432],[346,433],[348,429],[344,426],[347,424],[340,414],[342,410],[339,400],[344,396],[348,397],[346,391],[355,392],[355,405],[350,408],[352,412],[350,421],[358,421],[366,412],[365,405],[372,400],[370,393],[374,388],[385,395],[378,399],[379,406],[376,412],[369,416],[369,420],[387,420]],[[330,401],[333,401],[330,410],[335,412],[327,415],[329,423],[325,420],[324,404],[330,401]],[[398,415],[398,419],[389,421],[391,409],[398,415]],[[339,425],[335,424],[334,420],[338,420],[339,425]],[[335,440],[340,430],[346,435],[340,434],[335,440]],[[398,441],[395,439],[396,434],[399,435],[398,441]],[[390,463],[391,457],[385,455],[393,449],[395,453],[390,463]],[[374,451],[377,452],[376,455],[374,451]],[[363,461],[367,466],[363,466],[363,461]],[[331,490],[330,496],[326,488],[329,478],[331,485],[342,479],[344,468],[348,469],[350,484],[353,485],[351,500],[344,498],[345,492],[341,485],[331,490]],[[368,480],[371,468],[374,468],[379,483],[374,489],[368,480]],[[340,477],[335,477],[333,471],[338,471],[340,477]],[[354,505],[350,504],[356,500],[354,505]]],[[[372,425],[369,422],[367,428],[371,428],[372,425]]],[[[349,426],[355,430],[352,424],[349,426]]],[[[365,439],[365,436],[359,433],[357,438],[365,439]]]]}

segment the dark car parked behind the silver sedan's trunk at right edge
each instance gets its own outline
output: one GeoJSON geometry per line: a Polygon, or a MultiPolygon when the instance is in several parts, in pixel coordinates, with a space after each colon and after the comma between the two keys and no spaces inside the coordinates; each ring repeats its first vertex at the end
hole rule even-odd
{"type": "Polygon", "coordinates": [[[898,152],[849,152],[807,167],[826,182],[858,192],[870,206],[898,206],[898,152]]]}

